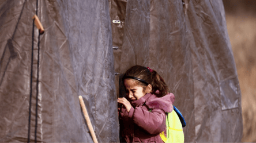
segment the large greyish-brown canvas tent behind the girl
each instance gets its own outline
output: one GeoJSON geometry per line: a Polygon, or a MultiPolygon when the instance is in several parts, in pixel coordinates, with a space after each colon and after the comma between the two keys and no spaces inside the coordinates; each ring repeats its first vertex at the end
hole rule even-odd
{"type": "Polygon", "coordinates": [[[0,46],[0,142],[92,142],[78,95],[98,141],[119,142],[119,76],[135,64],[167,82],[185,142],[241,141],[221,0],[0,1],[0,46]]]}

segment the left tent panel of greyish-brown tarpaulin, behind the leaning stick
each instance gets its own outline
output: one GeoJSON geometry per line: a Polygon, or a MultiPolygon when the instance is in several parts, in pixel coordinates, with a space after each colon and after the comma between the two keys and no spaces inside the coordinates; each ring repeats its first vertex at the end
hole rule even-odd
{"type": "Polygon", "coordinates": [[[97,140],[118,142],[108,1],[38,1],[45,32],[39,51],[34,29],[31,79],[36,2],[0,1],[0,142],[93,142],[79,95],[97,140]],[[10,61],[9,39],[17,53],[10,61]]]}

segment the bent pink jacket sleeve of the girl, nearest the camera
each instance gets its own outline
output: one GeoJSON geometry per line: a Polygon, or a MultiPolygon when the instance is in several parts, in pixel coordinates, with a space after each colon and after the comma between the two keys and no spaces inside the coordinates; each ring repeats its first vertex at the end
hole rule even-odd
{"type": "Polygon", "coordinates": [[[131,107],[129,116],[133,122],[149,134],[159,134],[165,129],[165,112],[161,109],[148,110],[131,107]]]}

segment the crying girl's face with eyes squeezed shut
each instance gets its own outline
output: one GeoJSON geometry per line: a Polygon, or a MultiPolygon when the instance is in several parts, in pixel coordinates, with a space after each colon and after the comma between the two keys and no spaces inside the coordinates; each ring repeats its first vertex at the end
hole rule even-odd
{"type": "Polygon", "coordinates": [[[129,97],[130,101],[137,101],[138,99],[142,98],[144,95],[146,95],[146,92],[150,92],[148,87],[151,85],[149,84],[148,87],[146,87],[146,91],[144,91],[142,86],[138,86],[137,83],[133,79],[125,79],[123,82],[125,89],[126,89],[126,96],[129,97]]]}

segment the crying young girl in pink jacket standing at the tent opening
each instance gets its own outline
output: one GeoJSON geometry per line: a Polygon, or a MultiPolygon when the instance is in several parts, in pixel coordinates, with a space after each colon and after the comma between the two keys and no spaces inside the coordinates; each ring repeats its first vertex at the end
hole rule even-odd
{"type": "Polygon", "coordinates": [[[135,65],[123,76],[126,98],[118,98],[122,109],[122,138],[126,142],[163,142],[165,118],[173,109],[174,94],[163,78],[150,68],[135,65]]]}

